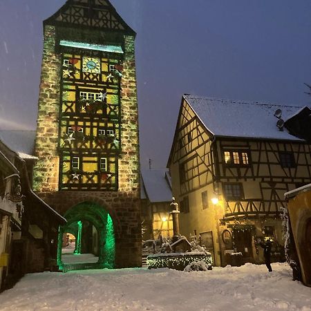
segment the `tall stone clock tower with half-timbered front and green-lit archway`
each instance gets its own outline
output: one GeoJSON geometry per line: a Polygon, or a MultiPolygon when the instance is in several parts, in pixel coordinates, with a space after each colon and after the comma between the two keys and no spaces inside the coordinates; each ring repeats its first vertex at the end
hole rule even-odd
{"type": "Polygon", "coordinates": [[[134,40],[107,0],[44,21],[34,189],[68,221],[60,266],[66,233],[103,267],[141,265],[134,40]]]}

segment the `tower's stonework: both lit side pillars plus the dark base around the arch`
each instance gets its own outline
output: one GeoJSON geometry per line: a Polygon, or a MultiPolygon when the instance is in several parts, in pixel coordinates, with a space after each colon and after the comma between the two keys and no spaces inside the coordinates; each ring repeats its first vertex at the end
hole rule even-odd
{"type": "Polygon", "coordinates": [[[119,190],[58,191],[59,92],[61,55],[55,53],[55,27],[45,26],[44,55],[39,93],[39,112],[34,169],[34,189],[39,196],[64,215],[81,202],[97,202],[109,212],[115,227],[115,267],[141,266],[140,167],[138,102],[135,76],[134,37],[124,36],[121,113],[122,151],[118,162],[119,190]]]}

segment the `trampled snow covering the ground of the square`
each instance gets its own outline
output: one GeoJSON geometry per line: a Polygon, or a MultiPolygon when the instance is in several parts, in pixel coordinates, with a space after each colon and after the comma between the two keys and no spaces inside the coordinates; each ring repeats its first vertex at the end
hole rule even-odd
{"type": "Polygon", "coordinates": [[[311,288],[292,281],[285,263],[28,274],[0,294],[0,310],[299,310],[311,311],[311,288]]]}

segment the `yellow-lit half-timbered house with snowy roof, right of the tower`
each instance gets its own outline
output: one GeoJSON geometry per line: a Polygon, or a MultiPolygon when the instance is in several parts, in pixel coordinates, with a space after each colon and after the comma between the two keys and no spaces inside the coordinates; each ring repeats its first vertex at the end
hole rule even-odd
{"type": "Polygon", "coordinates": [[[281,256],[283,194],[310,182],[311,146],[285,120],[301,106],[184,95],[169,156],[180,232],[196,234],[216,265],[281,256]]]}

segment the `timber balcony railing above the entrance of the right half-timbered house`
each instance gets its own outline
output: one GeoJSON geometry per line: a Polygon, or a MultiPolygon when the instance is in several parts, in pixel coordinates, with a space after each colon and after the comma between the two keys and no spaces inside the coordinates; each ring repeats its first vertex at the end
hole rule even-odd
{"type": "Polygon", "coordinates": [[[230,216],[249,216],[249,215],[275,215],[278,211],[265,208],[263,200],[238,200],[227,201],[225,217],[230,216]]]}

